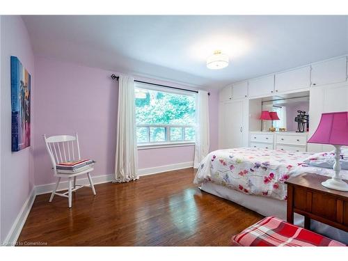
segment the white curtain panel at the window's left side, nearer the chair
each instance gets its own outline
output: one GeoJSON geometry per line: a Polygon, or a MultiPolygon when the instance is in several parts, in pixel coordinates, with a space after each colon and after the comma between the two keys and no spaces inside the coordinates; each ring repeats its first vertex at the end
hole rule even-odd
{"type": "Polygon", "coordinates": [[[134,78],[120,75],[118,79],[118,117],[116,130],[116,163],[114,182],[136,180],[138,150],[134,102],[134,78]]]}

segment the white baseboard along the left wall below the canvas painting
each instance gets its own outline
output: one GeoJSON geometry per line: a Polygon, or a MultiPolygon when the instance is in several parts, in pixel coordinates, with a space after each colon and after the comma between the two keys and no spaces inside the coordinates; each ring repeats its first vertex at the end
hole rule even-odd
{"type": "Polygon", "coordinates": [[[19,211],[19,214],[17,215],[15,222],[13,222],[13,226],[10,229],[10,232],[8,232],[8,235],[5,239],[5,242],[1,242],[2,245],[15,246],[17,239],[18,239],[18,237],[22,231],[22,228],[24,226],[24,223],[26,221],[26,218],[29,215],[31,207],[33,206],[35,196],[36,196],[35,187],[33,187],[31,192],[29,193],[28,198],[26,198],[22,209],[19,211]]]}

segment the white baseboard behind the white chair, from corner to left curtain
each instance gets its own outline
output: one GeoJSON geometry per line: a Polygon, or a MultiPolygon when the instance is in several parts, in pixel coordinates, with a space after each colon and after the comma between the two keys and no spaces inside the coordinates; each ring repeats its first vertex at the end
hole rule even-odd
{"type": "MultiPolygon", "coordinates": [[[[113,180],[113,175],[109,174],[109,175],[92,176],[92,179],[93,179],[93,184],[106,183],[106,182],[111,182],[113,180]]],[[[78,179],[76,183],[79,185],[89,184],[87,177],[78,179]]],[[[36,195],[51,193],[54,190],[55,186],[56,186],[56,183],[37,185],[35,186],[35,193],[36,195]]],[[[59,182],[57,191],[61,191],[65,189],[68,189],[68,180],[61,180],[61,182],[59,182]]]]}

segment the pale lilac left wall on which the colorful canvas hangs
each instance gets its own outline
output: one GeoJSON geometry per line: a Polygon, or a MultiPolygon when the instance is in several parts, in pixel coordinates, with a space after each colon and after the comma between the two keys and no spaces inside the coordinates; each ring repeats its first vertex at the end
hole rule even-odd
{"type": "Polygon", "coordinates": [[[31,147],[11,152],[10,56],[17,56],[31,74],[31,132],[34,118],[34,56],[26,26],[19,16],[1,16],[1,242],[6,239],[34,184],[31,147]]]}

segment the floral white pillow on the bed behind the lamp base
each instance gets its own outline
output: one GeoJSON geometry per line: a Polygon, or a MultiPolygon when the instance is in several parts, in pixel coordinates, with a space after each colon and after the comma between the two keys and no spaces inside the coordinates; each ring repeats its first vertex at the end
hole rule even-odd
{"type": "MultiPolygon", "coordinates": [[[[344,148],[340,154],[340,165],[342,169],[348,169],[348,149],[344,148]]],[[[329,152],[319,152],[308,157],[303,161],[310,166],[317,166],[321,168],[333,168],[335,163],[335,150],[329,152]]]]}

